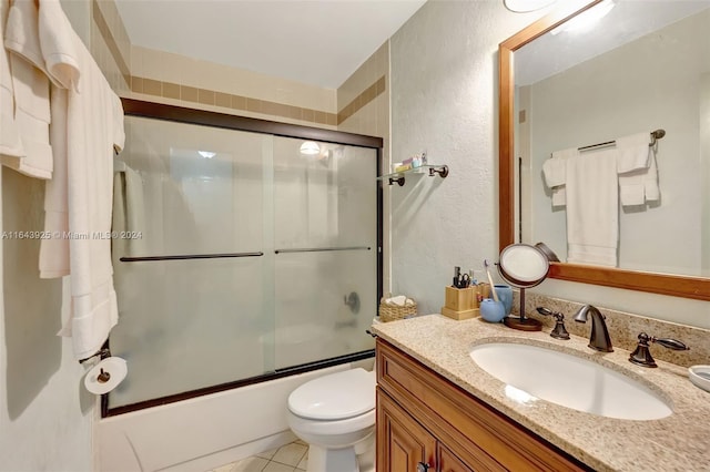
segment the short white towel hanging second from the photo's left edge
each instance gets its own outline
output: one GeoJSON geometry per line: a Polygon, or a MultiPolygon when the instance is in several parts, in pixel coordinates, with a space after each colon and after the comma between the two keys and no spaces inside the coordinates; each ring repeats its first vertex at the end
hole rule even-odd
{"type": "Polygon", "coordinates": [[[4,31],[9,51],[14,122],[23,156],[2,156],[2,164],[30,177],[52,178],[49,144],[49,79],[39,41],[38,10],[32,0],[17,0],[10,7],[4,31]]]}

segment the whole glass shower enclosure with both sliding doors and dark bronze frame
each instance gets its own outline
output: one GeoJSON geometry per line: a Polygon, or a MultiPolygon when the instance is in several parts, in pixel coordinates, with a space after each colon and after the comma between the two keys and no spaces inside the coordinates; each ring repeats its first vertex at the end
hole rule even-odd
{"type": "Polygon", "coordinates": [[[123,105],[103,415],[372,357],[382,140],[123,105]]]}

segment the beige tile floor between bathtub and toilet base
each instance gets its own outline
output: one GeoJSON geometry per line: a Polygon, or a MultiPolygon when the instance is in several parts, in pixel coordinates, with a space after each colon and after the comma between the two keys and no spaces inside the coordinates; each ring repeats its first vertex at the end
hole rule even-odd
{"type": "Polygon", "coordinates": [[[211,472],[304,472],[308,462],[307,453],[308,444],[297,440],[281,448],[219,466],[211,472]]]}

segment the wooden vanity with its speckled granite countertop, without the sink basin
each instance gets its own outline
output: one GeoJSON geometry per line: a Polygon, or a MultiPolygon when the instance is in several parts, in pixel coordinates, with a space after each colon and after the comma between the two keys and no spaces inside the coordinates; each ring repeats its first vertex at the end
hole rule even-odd
{"type": "Polygon", "coordinates": [[[710,394],[690,383],[686,368],[663,361],[657,369],[637,367],[620,348],[596,352],[578,336],[561,341],[480,318],[428,315],[373,331],[381,472],[707,470],[710,394]],[[623,420],[521,400],[471,359],[471,349],[486,342],[545,346],[600,362],[649,386],[672,413],[623,420]]]}

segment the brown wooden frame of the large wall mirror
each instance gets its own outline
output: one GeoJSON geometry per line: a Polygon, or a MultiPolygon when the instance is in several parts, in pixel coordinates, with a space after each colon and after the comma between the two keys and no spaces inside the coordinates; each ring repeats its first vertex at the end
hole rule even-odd
{"type": "MultiPolygon", "coordinates": [[[[602,0],[577,11],[558,9],[500,43],[498,48],[498,243],[499,252],[515,243],[515,78],[513,53],[602,0]]],[[[560,2],[561,3],[561,2],[560,2]]],[[[710,301],[710,278],[647,273],[580,264],[550,263],[548,277],[581,284],[640,290],[710,301]]]]}

